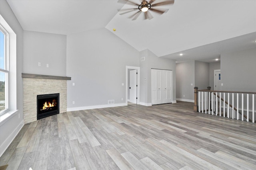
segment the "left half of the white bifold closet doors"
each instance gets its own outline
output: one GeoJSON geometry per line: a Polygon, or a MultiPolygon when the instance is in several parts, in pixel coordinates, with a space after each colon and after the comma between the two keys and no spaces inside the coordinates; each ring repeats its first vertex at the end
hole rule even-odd
{"type": "Polygon", "coordinates": [[[162,104],[162,70],[151,69],[151,103],[162,104]]]}

